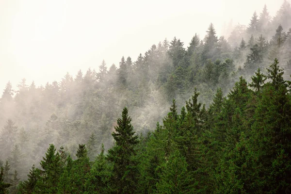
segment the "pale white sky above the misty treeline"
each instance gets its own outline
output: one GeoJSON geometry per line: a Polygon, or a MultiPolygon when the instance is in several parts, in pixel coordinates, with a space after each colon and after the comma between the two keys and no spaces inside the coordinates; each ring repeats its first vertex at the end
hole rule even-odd
{"type": "Polygon", "coordinates": [[[218,35],[233,19],[247,25],[264,4],[275,16],[283,0],[0,0],[0,95],[10,80],[36,85],[75,77],[104,59],[135,61],[174,36],[188,46],[212,22],[218,35]]]}

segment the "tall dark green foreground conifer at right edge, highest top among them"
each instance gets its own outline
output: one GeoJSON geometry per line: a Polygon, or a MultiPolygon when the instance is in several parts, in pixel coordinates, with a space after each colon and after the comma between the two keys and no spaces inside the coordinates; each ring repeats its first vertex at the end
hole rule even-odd
{"type": "Polygon", "coordinates": [[[291,183],[290,96],[277,59],[267,70],[271,82],[264,85],[252,126],[252,149],[258,157],[258,177],[252,181],[260,193],[285,193],[290,191],[291,183]]]}

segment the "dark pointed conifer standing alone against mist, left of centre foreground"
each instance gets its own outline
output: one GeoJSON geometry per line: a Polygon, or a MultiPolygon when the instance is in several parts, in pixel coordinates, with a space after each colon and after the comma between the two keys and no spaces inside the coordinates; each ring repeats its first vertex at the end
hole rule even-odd
{"type": "Polygon", "coordinates": [[[114,193],[133,193],[136,190],[137,169],[133,156],[136,154],[135,146],[138,144],[130,124],[128,109],[122,111],[122,118],[117,119],[116,132],[112,133],[115,140],[113,148],[108,150],[107,159],[113,162],[113,180],[111,184],[114,193]]]}

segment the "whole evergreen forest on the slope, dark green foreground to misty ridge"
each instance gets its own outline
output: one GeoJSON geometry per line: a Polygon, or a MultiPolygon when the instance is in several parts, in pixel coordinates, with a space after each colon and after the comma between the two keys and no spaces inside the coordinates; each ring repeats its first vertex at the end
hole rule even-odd
{"type": "Polygon", "coordinates": [[[291,5],[0,98],[0,194],[291,194],[291,5]]]}

